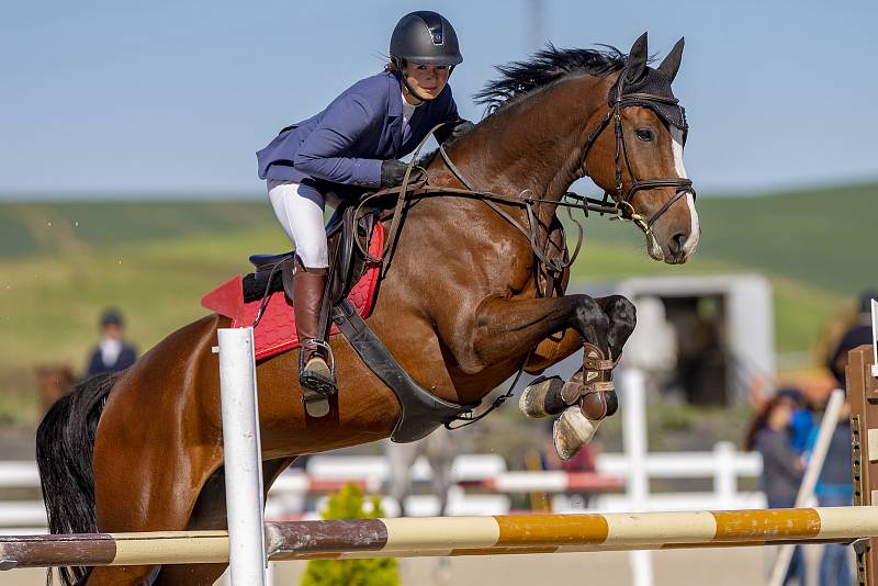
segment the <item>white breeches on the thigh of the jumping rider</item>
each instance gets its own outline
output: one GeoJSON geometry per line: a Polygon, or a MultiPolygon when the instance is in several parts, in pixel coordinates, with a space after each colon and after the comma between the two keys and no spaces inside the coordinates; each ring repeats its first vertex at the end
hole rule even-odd
{"type": "MultiPolygon", "coordinates": [[[[274,214],[295,248],[302,263],[308,269],[329,266],[326,227],[323,214],[326,198],[312,185],[293,181],[268,180],[268,196],[274,214]]],[[[329,199],[329,205],[338,203],[329,199]]]]}

